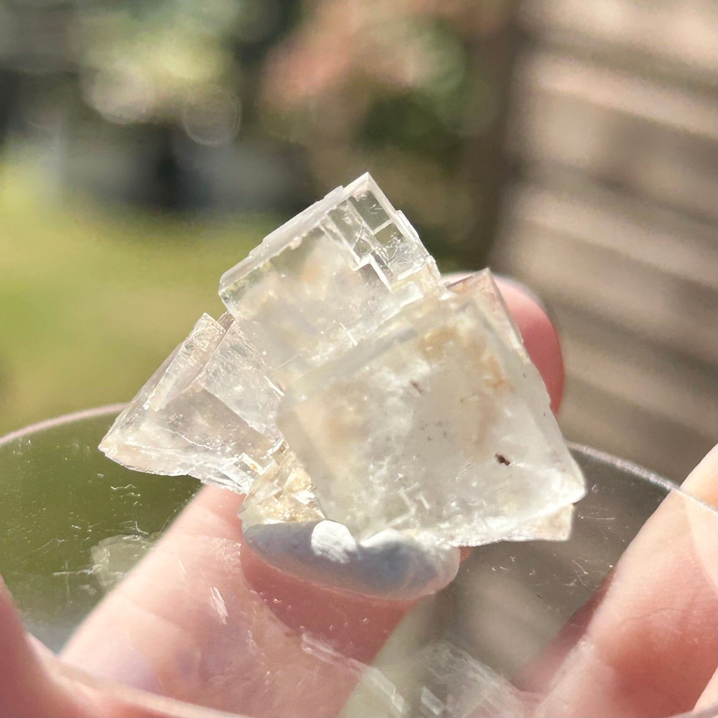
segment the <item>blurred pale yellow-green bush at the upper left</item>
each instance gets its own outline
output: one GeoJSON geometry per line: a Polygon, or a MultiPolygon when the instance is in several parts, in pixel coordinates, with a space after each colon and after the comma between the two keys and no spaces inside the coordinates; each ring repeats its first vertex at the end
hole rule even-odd
{"type": "MultiPolygon", "coordinates": [[[[274,4],[269,4],[270,8],[274,4]]],[[[201,144],[221,144],[239,126],[245,68],[233,40],[271,26],[232,0],[129,1],[80,13],[83,95],[118,123],[174,122],[201,144]]]]}

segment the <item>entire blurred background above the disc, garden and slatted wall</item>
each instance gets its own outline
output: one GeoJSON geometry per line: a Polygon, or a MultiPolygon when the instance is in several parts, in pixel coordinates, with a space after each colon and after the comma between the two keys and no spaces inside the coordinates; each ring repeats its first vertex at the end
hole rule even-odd
{"type": "Polygon", "coordinates": [[[717,429],[712,0],[0,0],[0,434],[126,401],[220,274],[369,170],[444,271],[531,286],[564,433],[717,429]]]}

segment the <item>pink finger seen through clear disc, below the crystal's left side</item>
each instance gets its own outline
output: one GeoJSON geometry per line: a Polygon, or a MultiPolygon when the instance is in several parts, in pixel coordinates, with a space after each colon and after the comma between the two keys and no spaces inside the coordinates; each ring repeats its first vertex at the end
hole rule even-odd
{"type": "Polygon", "coordinates": [[[109,679],[251,715],[334,715],[351,661],[307,651],[305,631],[370,661],[409,609],[286,577],[242,555],[241,497],[206,488],[63,651],[109,679]]]}

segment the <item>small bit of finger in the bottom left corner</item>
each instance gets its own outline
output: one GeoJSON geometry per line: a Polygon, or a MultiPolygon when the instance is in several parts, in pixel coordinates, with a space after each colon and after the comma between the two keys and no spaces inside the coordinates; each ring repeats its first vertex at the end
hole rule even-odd
{"type": "Polygon", "coordinates": [[[0,579],[0,717],[89,717],[96,708],[80,691],[53,679],[22,627],[0,579]]]}

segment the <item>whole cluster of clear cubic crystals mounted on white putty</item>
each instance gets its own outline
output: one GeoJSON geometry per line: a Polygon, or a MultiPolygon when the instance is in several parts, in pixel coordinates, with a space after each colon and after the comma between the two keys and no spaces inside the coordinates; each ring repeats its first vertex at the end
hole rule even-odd
{"type": "Polygon", "coordinates": [[[447,289],[368,174],[266,237],[220,297],[103,439],[113,460],[247,493],[244,528],[328,519],[360,553],[386,531],[568,536],[583,478],[490,273],[447,289]]]}

